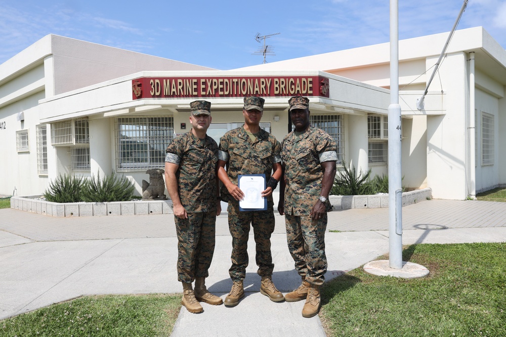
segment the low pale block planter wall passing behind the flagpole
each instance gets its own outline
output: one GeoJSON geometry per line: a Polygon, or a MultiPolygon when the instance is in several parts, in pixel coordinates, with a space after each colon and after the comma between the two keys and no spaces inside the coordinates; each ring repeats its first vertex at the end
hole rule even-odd
{"type": "MultiPolygon", "coordinates": [[[[388,195],[329,196],[328,199],[334,210],[347,210],[350,208],[388,208],[388,195]]],[[[432,199],[431,188],[403,192],[402,206],[415,204],[428,199],[432,199]]]]}

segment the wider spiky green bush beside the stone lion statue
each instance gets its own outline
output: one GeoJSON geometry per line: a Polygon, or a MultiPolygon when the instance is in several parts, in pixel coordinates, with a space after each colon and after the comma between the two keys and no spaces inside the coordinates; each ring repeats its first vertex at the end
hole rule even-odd
{"type": "Polygon", "coordinates": [[[134,196],[135,185],[125,176],[111,173],[100,180],[97,177],[86,179],[81,189],[81,199],[85,202],[129,201],[134,196]]]}

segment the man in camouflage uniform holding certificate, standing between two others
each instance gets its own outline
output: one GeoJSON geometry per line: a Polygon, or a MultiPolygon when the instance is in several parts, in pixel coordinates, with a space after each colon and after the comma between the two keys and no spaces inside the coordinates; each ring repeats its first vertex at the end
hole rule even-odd
{"type": "Polygon", "coordinates": [[[228,202],[228,224],[232,235],[232,266],[229,274],[234,285],[225,299],[225,305],[228,306],[237,305],[243,295],[242,280],[246,276],[248,265],[247,242],[250,224],[256,243],[256,262],[259,266],[257,273],[262,276],[261,292],[272,301],[283,300],[283,295],[277,291],[271,279],[274,264],[270,240],[275,223],[272,190],[281,176],[281,146],[272,134],[259,126],[263,105],[262,98],[245,97],[244,125],[228,131],[220,138],[218,176],[223,182],[221,198],[228,202]],[[273,176],[276,177],[271,177],[273,168],[273,176]],[[239,200],[244,197],[244,193],[237,186],[239,174],[265,174],[269,183],[262,196],[267,198],[267,210],[239,210],[239,200]]]}

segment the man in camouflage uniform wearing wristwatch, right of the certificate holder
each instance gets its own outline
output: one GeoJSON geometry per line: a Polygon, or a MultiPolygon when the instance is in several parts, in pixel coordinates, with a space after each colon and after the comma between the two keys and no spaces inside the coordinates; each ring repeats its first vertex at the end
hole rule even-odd
{"type": "Polygon", "coordinates": [[[303,310],[303,316],[312,317],[320,307],[318,287],[323,284],[327,271],[326,212],[332,209],[328,194],[335,176],[337,148],[330,135],[309,123],[307,98],[294,97],[289,104],[296,130],[288,133],[282,142],[284,184],[281,184],[278,210],[285,214],[288,249],[303,283],[298,290],[286,294],[285,300],[299,301],[314,288],[318,301],[313,304],[317,308],[308,306],[307,302],[303,310]]]}

